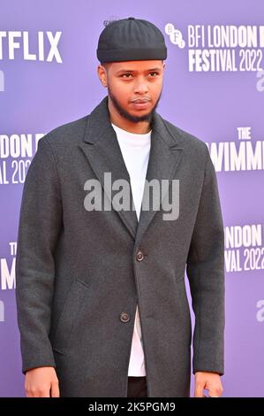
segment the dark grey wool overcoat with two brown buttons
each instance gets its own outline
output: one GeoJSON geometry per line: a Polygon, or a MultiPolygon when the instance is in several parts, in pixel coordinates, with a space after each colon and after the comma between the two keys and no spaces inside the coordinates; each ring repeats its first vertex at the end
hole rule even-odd
{"type": "Polygon", "coordinates": [[[188,397],[192,372],[223,374],[223,219],[207,145],[155,112],[146,179],[169,181],[169,196],[178,180],[177,220],[163,219],[162,204],[141,210],[139,222],[118,210],[104,173],[130,181],[108,96],[42,137],[26,175],[16,263],[22,371],[56,366],[62,397],[127,397],[139,304],[148,397],[188,397]],[[89,179],[102,184],[109,210],[85,208],[89,179]]]}

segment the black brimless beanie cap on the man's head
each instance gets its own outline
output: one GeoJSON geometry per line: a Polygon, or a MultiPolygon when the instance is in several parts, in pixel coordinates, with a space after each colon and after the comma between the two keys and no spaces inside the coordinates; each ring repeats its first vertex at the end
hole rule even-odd
{"type": "Polygon", "coordinates": [[[136,18],[111,21],[99,37],[101,63],[167,58],[164,36],[153,23],[136,18]]]}

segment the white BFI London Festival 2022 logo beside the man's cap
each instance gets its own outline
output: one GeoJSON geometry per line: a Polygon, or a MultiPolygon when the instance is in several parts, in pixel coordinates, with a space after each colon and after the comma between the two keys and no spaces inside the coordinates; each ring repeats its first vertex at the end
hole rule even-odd
{"type": "Polygon", "coordinates": [[[164,30],[178,48],[187,43],[189,72],[253,72],[256,89],[264,91],[264,26],[188,25],[187,42],[174,24],[164,30]]]}

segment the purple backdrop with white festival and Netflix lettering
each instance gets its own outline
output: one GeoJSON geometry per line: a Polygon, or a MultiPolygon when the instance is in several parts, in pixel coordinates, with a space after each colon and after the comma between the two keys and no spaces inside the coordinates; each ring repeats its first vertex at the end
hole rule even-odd
{"type": "Polygon", "coordinates": [[[264,397],[263,0],[0,0],[0,397],[24,396],[15,261],[28,166],[45,133],[101,101],[98,36],[104,20],[129,16],[165,36],[158,112],[207,143],[215,165],[225,227],[224,396],[264,397]]]}

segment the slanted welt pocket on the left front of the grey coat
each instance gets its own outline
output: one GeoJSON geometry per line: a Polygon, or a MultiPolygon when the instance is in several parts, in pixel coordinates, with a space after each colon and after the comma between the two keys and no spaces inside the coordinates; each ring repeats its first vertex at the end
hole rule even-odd
{"type": "Polygon", "coordinates": [[[53,350],[64,353],[70,343],[72,330],[78,324],[79,313],[87,297],[89,286],[84,281],[75,279],[66,298],[63,312],[58,320],[53,350]]]}

